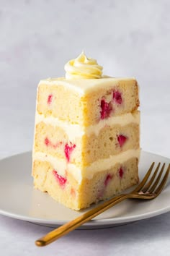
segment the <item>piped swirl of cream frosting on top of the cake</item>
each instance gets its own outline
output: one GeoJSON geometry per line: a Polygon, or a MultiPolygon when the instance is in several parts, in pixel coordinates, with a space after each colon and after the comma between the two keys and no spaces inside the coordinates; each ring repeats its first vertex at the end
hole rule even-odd
{"type": "Polygon", "coordinates": [[[102,66],[96,59],[87,58],[82,52],[76,59],[68,61],[64,67],[66,79],[98,79],[102,77],[102,66]]]}

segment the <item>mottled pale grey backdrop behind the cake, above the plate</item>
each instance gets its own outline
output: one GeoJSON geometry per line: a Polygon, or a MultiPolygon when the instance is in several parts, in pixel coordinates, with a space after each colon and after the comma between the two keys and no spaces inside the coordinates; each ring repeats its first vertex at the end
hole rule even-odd
{"type": "Polygon", "coordinates": [[[137,78],[141,147],[170,157],[169,11],[168,0],[1,0],[1,155],[32,149],[37,83],[84,49],[104,74],[137,78]]]}

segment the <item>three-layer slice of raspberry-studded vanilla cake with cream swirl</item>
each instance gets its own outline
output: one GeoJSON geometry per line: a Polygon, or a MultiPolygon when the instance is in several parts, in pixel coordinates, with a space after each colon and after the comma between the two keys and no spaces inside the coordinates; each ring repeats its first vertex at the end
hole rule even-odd
{"type": "Polygon", "coordinates": [[[37,189],[79,210],[138,183],[138,83],[102,77],[81,54],[66,78],[37,88],[32,176],[37,189]]]}

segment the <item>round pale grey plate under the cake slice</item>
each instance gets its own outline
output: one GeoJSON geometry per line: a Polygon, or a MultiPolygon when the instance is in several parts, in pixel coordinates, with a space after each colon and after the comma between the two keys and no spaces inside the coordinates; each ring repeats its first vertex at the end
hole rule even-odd
{"type": "MultiPolygon", "coordinates": [[[[140,157],[140,179],[151,163],[170,163],[169,158],[142,152],[140,157]]],[[[58,202],[47,193],[32,186],[31,152],[13,155],[0,161],[0,213],[12,218],[38,223],[43,226],[58,226],[80,216],[86,210],[76,212],[58,202]]],[[[101,229],[119,226],[144,218],[158,216],[170,210],[170,178],[164,191],[155,200],[125,200],[107,210],[81,229],[101,229]]],[[[94,206],[92,206],[94,207],[94,206]]],[[[92,208],[91,207],[91,208],[92,208]]]]}

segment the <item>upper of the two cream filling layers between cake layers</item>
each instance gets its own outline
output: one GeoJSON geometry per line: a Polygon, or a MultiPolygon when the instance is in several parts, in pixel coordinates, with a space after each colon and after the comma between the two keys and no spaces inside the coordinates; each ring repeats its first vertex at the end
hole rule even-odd
{"type": "Polygon", "coordinates": [[[56,117],[45,117],[43,114],[36,113],[35,123],[40,122],[53,125],[53,127],[61,127],[68,135],[68,140],[73,142],[77,137],[83,135],[90,136],[92,134],[98,136],[101,129],[104,127],[112,127],[113,125],[125,126],[130,123],[140,123],[140,111],[134,111],[133,113],[122,114],[121,116],[112,116],[109,119],[101,119],[98,124],[90,125],[89,127],[81,127],[79,124],[69,124],[66,121],[61,121],[56,117]]]}

